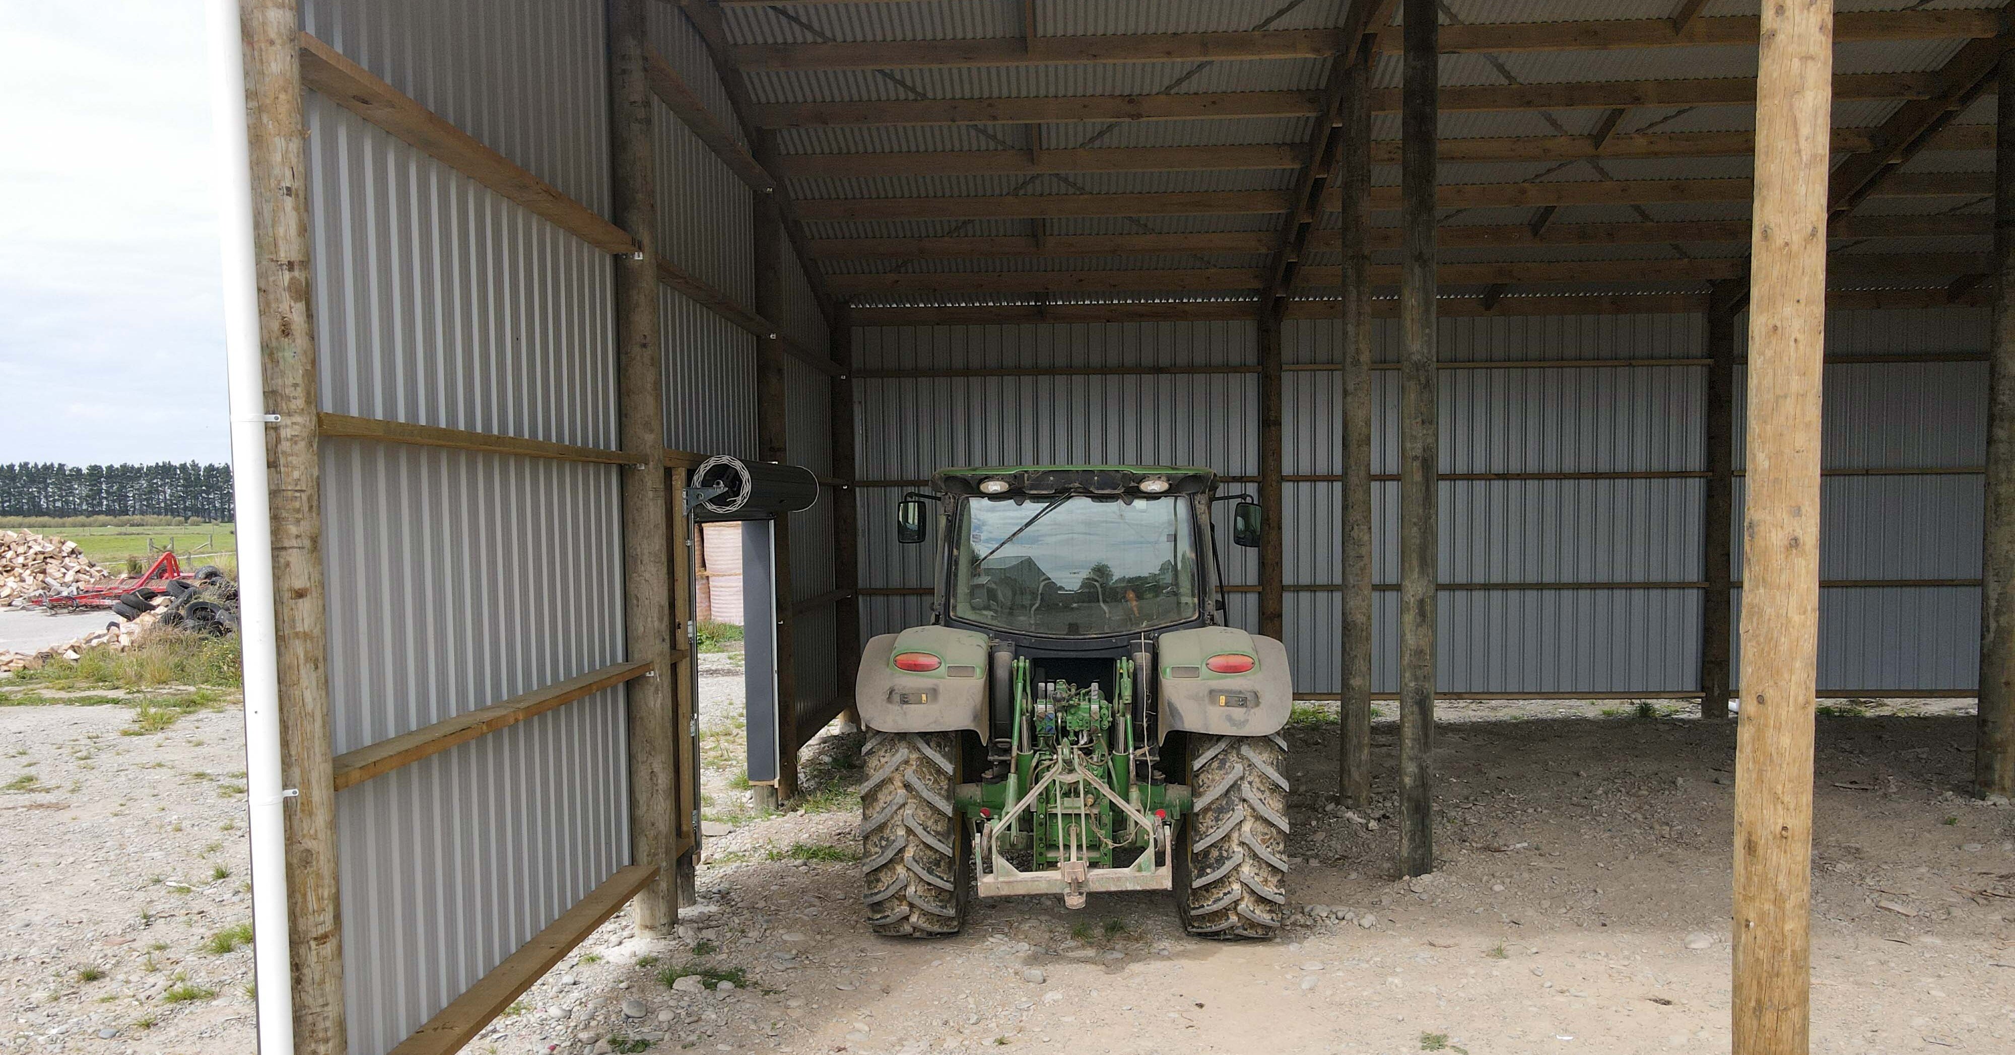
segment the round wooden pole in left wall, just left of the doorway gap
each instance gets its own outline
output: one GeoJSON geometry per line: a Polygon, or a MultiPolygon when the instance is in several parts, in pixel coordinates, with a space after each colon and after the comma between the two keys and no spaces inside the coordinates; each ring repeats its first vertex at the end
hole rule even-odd
{"type": "Polygon", "coordinates": [[[609,149],[615,221],[637,242],[617,268],[617,419],[623,451],[623,628],[629,658],[631,864],[657,868],[637,894],[637,930],[679,920],[677,699],[671,689],[671,554],[665,513],[665,393],[657,322],[655,105],[645,74],[647,0],[609,0],[609,149]]]}

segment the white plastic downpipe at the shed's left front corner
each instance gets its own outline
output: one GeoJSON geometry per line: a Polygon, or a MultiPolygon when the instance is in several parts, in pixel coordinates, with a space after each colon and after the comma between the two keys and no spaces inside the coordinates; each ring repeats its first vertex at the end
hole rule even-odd
{"type": "Polygon", "coordinates": [[[294,991],[286,920],[286,797],[280,787],[280,662],[272,614],[272,525],[266,507],[266,379],[260,370],[258,272],[252,248],[252,159],[238,0],[208,0],[210,111],[216,137],[218,236],[224,244],[224,360],[238,503],[238,642],[246,681],[246,791],[252,834],[252,946],[260,1055],[294,1055],[294,991]]]}

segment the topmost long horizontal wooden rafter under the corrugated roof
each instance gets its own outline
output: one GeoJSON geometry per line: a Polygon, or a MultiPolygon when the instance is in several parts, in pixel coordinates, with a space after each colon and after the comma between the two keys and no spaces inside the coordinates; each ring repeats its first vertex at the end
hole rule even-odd
{"type": "MultiPolygon", "coordinates": [[[[1838,40],[1946,40],[1999,32],[1999,12],[1846,12],[1838,40]]],[[[1600,22],[1513,22],[1443,26],[1441,50],[1610,50],[1757,42],[1757,18],[1622,18],[1600,22]]],[[[744,70],[872,70],[945,66],[1030,66],[1054,62],[1197,62],[1237,58],[1326,58],[1346,44],[1342,30],[1159,32],[1112,36],[1046,36],[1026,48],[1020,36],[977,40],[868,40],[838,44],[742,44],[733,62],[744,70]]],[[[1398,50],[1398,34],[1380,34],[1378,48],[1398,50]]]]}

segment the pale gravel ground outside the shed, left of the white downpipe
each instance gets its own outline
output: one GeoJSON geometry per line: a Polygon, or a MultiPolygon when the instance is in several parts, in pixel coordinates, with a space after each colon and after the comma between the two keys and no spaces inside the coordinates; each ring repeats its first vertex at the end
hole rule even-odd
{"type": "Polygon", "coordinates": [[[131,719],[0,707],[0,1051],[252,1051],[244,711],[131,719]]]}

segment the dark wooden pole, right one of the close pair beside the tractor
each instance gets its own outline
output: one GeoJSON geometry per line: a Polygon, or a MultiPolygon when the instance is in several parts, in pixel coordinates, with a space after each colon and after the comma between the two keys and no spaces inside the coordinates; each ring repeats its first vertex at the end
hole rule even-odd
{"type": "Polygon", "coordinates": [[[1398,501],[1398,858],[1435,870],[1435,141],[1441,28],[1435,0],[1404,0],[1400,87],[1400,501],[1398,501]]]}

